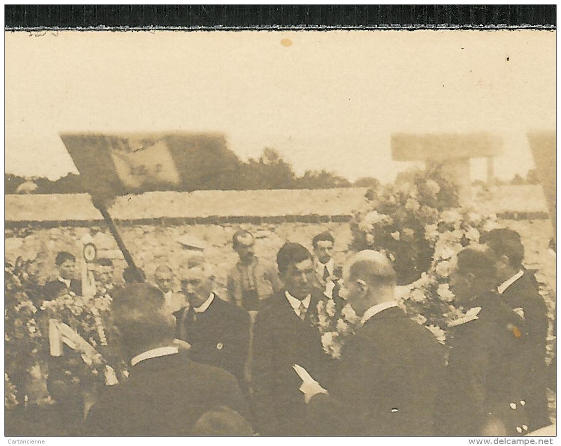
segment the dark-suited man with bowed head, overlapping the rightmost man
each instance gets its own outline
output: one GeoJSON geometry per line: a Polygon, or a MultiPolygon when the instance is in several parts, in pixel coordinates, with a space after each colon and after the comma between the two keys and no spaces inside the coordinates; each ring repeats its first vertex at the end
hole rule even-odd
{"type": "Polygon", "coordinates": [[[440,435],[520,435],[526,417],[527,333],[501,301],[494,253],[466,248],[450,274],[450,289],[466,316],[449,324],[448,366],[440,386],[440,435]]]}

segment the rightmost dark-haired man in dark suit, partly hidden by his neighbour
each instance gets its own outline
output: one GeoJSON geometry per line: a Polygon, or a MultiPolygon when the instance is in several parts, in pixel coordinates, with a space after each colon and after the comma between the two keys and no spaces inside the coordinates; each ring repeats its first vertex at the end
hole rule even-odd
{"type": "Polygon", "coordinates": [[[528,333],[526,411],[532,430],[536,430],[550,424],[545,365],[548,308],[534,274],[522,265],[524,246],[518,232],[493,229],[481,236],[481,242],[495,254],[496,290],[501,300],[523,319],[522,326],[528,333]]]}

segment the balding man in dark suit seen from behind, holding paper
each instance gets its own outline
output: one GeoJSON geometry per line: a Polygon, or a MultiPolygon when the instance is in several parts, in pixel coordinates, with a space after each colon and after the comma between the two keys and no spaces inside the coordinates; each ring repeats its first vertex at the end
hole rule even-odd
{"type": "Polygon", "coordinates": [[[311,398],[312,433],[433,434],[442,349],[428,330],[398,309],[396,273],[383,254],[358,252],[349,262],[344,283],[362,327],[343,347],[333,379],[319,380],[327,394],[306,381],[302,385],[306,399],[311,398]]]}

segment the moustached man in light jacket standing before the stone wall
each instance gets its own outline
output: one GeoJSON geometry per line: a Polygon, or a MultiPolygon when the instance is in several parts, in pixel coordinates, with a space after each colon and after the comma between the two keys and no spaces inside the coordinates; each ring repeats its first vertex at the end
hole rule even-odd
{"type": "Polygon", "coordinates": [[[274,267],[255,256],[255,240],[248,231],[232,237],[238,263],[228,273],[227,300],[247,311],[258,311],[269,296],[281,287],[274,267]]]}

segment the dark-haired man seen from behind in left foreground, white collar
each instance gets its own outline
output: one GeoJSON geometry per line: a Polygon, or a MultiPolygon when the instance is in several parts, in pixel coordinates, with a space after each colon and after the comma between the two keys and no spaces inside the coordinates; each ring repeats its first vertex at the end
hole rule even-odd
{"type": "Polygon", "coordinates": [[[216,407],[245,415],[231,374],[194,362],[173,346],[176,321],[159,289],[145,283],[119,289],[112,314],[130,358],[130,375],[90,409],[86,434],[188,435],[201,415],[216,407]]]}

